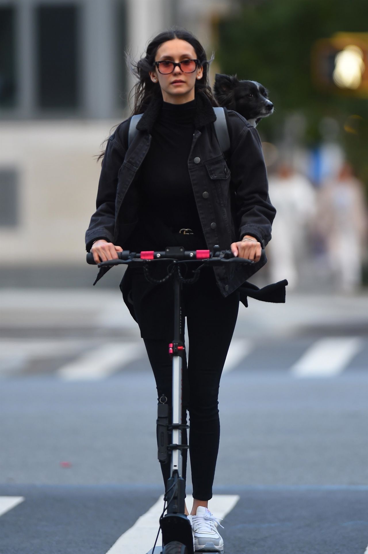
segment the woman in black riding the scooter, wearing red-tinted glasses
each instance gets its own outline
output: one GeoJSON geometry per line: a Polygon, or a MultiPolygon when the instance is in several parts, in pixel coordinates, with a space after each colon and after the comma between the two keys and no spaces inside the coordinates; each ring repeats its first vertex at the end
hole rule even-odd
{"type": "MultiPolygon", "coordinates": [[[[202,45],[186,30],[170,30],[151,40],[135,69],[139,81],[134,114],[144,114],[129,150],[130,118],[108,139],[86,249],[99,263],[117,258],[123,248],[135,252],[162,250],[167,245],[212,249],[219,244],[255,261],[231,269],[206,268],[196,283],[184,284],[182,292],[182,318],[184,324],[187,317],[190,341],[188,365],[183,359],[182,419],[186,423],[188,409],[193,484],[191,515],[187,507],[185,512],[192,522],[195,549],[212,543],[210,548],[220,551],[223,540],[208,500],[219,447],[219,382],[239,299],[246,304],[241,289],[243,295],[284,301],[286,281],[281,281],[282,290],[278,288],[281,295],[277,286],[272,295],[269,285],[265,297],[264,289],[245,282],[266,263],[261,249],[271,238],[276,211],[268,194],[259,135],[234,111],[226,113],[232,147],[225,162],[213,126],[212,106],[217,102],[208,85],[208,66],[202,45]]],[[[165,274],[164,260],[153,265],[156,276],[165,274]]],[[[191,274],[192,264],[187,269],[191,274]]],[[[100,269],[95,283],[106,271],[100,269]]],[[[171,280],[154,285],[145,280],[141,268],[129,266],[120,289],[140,327],[157,401],[166,397],[171,406],[172,368],[167,353],[172,340],[171,280]]],[[[186,432],[182,435],[187,444],[186,432]]],[[[183,450],[184,478],[186,454],[183,450]]],[[[165,486],[169,465],[161,464],[165,486]]]]}

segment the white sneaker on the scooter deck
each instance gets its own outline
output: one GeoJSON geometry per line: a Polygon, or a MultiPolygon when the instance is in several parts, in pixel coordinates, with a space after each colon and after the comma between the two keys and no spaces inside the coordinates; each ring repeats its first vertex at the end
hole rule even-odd
{"type": "Polygon", "coordinates": [[[214,517],[208,508],[197,507],[197,514],[191,516],[195,552],[222,552],[224,550],[224,541],[216,529],[216,524],[224,529],[219,519],[214,517]]]}

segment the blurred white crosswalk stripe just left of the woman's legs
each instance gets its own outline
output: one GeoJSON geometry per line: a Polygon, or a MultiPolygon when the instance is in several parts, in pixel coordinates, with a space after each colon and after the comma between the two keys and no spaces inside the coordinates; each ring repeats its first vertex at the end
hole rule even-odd
{"type": "Polygon", "coordinates": [[[57,370],[66,381],[103,379],[122,366],[138,360],[143,352],[138,342],[110,342],[83,353],[77,360],[57,370]]]}

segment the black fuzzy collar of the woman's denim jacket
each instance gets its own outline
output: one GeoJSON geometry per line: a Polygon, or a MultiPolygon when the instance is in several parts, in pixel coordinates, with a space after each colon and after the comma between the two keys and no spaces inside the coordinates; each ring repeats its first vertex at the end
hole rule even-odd
{"type": "MultiPolygon", "coordinates": [[[[194,115],[194,128],[200,129],[204,125],[208,125],[216,120],[215,112],[206,94],[201,91],[197,91],[194,96],[196,100],[196,113],[194,115]]],[[[162,106],[162,95],[157,96],[151,100],[150,104],[146,108],[143,116],[140,118],[136,125],[138,131],[150,132],[153,128],[154,122],[159,117],[162,106]]]]}

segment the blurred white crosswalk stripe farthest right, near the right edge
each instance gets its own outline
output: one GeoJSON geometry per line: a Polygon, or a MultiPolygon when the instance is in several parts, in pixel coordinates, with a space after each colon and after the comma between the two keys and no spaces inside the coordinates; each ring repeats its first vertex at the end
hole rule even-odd
{"type": "Polygon", "coordinates": [[[359,352],[360,337],[327,337],[314,342],[291,367],[295,377],[330,377],[337,375],[359,352]]]}

